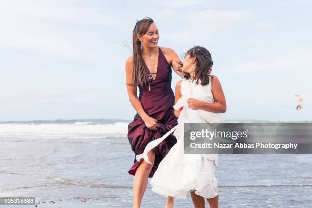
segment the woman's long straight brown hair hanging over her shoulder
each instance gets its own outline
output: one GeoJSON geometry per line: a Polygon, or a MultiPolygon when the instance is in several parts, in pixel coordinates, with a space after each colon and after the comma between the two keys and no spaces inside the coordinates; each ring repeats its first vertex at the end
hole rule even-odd
{"type": "Polygon", "coordinates": [[[144,85],[148,82],[148,73],[146,64],[142,57],[142,42],[138,39],[138,35],[146,34],[149,26],[154,23],[149,17],[137,21],[132,32],[132,47],[133,47],[133,72],[131,85],[144,85]]]}

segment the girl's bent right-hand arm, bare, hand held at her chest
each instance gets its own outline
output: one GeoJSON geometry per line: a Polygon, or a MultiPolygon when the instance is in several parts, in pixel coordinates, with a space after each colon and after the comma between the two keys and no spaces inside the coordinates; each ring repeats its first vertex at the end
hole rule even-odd
{"type": "Polygon", "coordinates": [[[191,98],[187,100],[187,102],[189,103],[189,107],[193,110],[202,109],[213,113],[225,113],[226,101],[221,87],[221,83],[216,76],[212,76],[210,81],[215,102],[210,103],[191,98]]]}

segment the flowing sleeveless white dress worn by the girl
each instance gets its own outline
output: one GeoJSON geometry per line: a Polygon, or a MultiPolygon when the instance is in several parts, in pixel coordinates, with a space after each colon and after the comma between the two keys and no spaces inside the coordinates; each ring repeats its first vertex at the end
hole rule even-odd
{"type": "Polygon", "coordinates": [[[184,123],[223,123],[223,118],[218,113],[192,110],[188,107],[187,99],[194,98],[205,102],[214,102],[211,91],[211,82],[202,86],[195,85],[195,81],[183,79],[181,82],[182,97],[173,106],[178,110],[183,109],[178,118],[178,125],[167,132],[163,137],[150,142],[143,154],[137,155],[139,161],[144,158],[148,161],[147,153],[174,132],[177,143],[159,164],[150,183],[152,191],[165,197],[186,198],[188,191],[194,191],[205,198],[218,196],[217,179],[214,175],[218,166],[218,154],[184,154],[184,123]],[[193,94],[191,93],[193,92],[193,94]]]}

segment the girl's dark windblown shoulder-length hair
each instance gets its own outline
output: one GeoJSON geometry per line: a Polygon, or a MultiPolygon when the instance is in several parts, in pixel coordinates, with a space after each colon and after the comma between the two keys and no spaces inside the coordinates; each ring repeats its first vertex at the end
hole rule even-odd
{"type": "MultiPolygon", "coordinates": [[[[209,75],[208,70],[212,69],[212,65],[214,62],[211,59],[211,54],[209,51],[201,46],[194,46],[193,48],[189,49],[187,53],[184,54],[190,55],[190,58],[196,58],[196,67],[195,67],[195,73],[194,73],[194,80],[196,80],[196,84],[199,84],[199,81],[201,82],[201,85],[207,85],[209,84],[209,75]]],[[[190,74],[186,73],[184,75],[185,79],[190,79],[190,74]]]]}

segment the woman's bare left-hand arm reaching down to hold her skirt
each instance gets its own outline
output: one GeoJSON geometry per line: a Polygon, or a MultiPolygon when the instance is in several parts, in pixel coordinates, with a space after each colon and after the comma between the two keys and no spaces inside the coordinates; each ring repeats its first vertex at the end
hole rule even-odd
{"type": "Polygon", "coordinates": [[[132,57],[129,57],[126,61],[126,85],[127,85],[127,91],[129,100],[131,102],[131,105],[133,108],[137,111],[137,113],[140,115],[142,120],[144,121],[147,128],[151,130],[157,130],[157,120],[150,117],[143,109],[142,103],[138,99],[137,96],[137,86],[130,85],[132,80],[132,72],[133,72],[133,66],[132,66],[132,57]]]}

